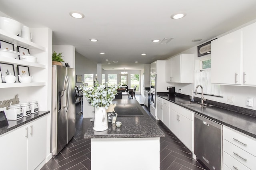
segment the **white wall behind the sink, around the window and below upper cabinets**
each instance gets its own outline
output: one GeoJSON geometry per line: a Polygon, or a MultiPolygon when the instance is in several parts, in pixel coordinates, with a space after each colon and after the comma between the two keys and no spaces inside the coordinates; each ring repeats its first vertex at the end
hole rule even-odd
{"type": "MultiPolygon", "coordinates": [[[[245,25],[248,25],[248,24],[245,24],[245,25]]],[[[241,27],[239,27],[239,28],[241,28],[241,27]]],[[[237,30],[237,29],[234,29],[234,30],[237,30]]],[[[228,32],[228,33],[230,33],[230,32],[228,32]]],[[[225,33],[225,34],[227,34],[227,33],[225,33]]],[[[223,34],[223,35],[225,35],[225,34],[223,34]]],[[[221,36],[218,36],[218,37],[221,37],[221,36]]],[[[206,42],[208,42],[208,41],[206,41],[206,42]]],[[[205,43],[205,42],[203,42],[203,43],[205,43]]],[[[210,57],[210,54],[202,56],[202,57],[197,57],[197,46],[192,47],[192,48],[190,48],[186,51],[182,51],[182,53],[194,53],[195,69],[199,69],[199,65],[198,65],[198,62],[197,62],[198,59],[201,60],[201,59],[205,59],[206,57],[210,57]]],[[[176,55],[174,55],[174,56],[176,56],[176,55]]],[[[172,57],[174,57],[174,56],[172,56],[172,57]]],[[[222,76],[222,75],[220,75],[220,76],[222,76]]],[[[191,84],[175,83],[175,91],[177,93],[178,93],[178,89],[182,89],[181,93],[186,94],[186,95],[191,95],[191,92],[190,92],[191,90],[195,91],[193,83],[191,83],[191,84]]],[[[255,93],[256,87],[222,85],[222,91],[223,91],[223,98],[209,96],[209,95],[204,95],[204,98],[212,100],[212,101],[226,103],[226,104],[229,104],[229,105],[235,105],[235,106],[239,106],[239,107],[244,107],[244,108],[256,110],[256,93],[255,93]],[[234,103],[229,103],[228,102],[228,96],[234,96],[234,103]],[[254,107],[246,106],[246,99],[248,97],[251,97],[251,98],[254,99],[254,107]]],[[[196,97],[201,97],[201,95],[198,94],[196,97]]]]}

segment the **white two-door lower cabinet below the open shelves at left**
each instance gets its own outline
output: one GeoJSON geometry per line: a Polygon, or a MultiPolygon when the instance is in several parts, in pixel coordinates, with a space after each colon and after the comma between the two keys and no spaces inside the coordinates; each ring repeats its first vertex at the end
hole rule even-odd
{"type": "Polygon", "coordinates": [[[1,169],[34,170],[46,158],[47,117],[0,137],[1,169]]]}

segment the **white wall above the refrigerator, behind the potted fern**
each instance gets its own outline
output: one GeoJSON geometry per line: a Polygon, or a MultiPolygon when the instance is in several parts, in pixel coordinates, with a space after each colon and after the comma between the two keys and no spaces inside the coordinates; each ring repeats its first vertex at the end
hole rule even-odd
{"type": "Polygon", "coordinates": [[[62,59],[65,62],[62,62],[62,65],[65,65],[65,63],[68,63],[71,68],[76,67],[75,64],[75,47],[73,45],[52,45],[52,51],[55,51],[56,53],[62,53],[63,57],[62,59]]]}

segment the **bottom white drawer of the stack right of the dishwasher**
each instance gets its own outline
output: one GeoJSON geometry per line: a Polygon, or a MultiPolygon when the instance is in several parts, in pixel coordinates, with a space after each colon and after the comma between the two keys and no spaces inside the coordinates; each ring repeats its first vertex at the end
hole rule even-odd
{"type": "Polygon", "coordinates": [[[226,166],[228,166],[228,168],[232,170],[249,170],[249,168],[244,166],[242,163],[237,161],[235,158],[233,158],[226,152],[223,152],[223,164],[225,164],[226,166]]]}

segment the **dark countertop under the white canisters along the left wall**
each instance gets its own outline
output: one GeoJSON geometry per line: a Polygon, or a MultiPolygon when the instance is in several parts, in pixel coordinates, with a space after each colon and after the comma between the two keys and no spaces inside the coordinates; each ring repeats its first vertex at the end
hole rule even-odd
{"type": "Polygon", "coordinates": [[[34,121],[35,119],[38,119],[39,117],[42,117],[48,113],[50,113],[50,111],[39,111],[38,113],[33,113],[29,116],[23,117],[22,119],[18,119],[16,121],[8,120],[9,125],[0,128],[0,135],[9,132],[10,130],[13,130],[15,128],[18,128],[22,125],[25,125],[26,123],[34,121]]]}

